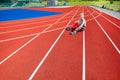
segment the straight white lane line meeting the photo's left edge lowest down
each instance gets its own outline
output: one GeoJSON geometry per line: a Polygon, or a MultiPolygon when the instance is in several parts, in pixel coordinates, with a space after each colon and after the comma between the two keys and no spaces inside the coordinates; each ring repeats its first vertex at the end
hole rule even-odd
{"type": "MultiPolygon", "coordinates": [[[[62,16],[61,18],[59,18],[57,21],[55,21],[53,24],[51,24],[49,27],[45,28],[42,32],[45,32],[46,30],[48,30],[49,28],[51,28],[54,24],[56,24],[57,22],[59,22],[61,19],[63,19],[66,15],[70,14],[71,11],[67,14],[65,14],[64,16],[62,16]]],[[[32,39],[30,39],[28,42],[26,42],[25,44],[23,44],[20,48],[18,48],[17,50],[15,50],[13,53],[11,53],[9,56],[7,56],[5,59],[3,59],[0,64],[4,63],[6,60],[8,60],[9,58],[11,58],[14,54],[16,54],[18,51],[20,51],[22,48],[24,48],[26,45],[28,45],[30,42],[32,42],[34,39],[36,39],[38,36],[40,36],[41,33],[38,33],[36,36],[34,36],[32,39]]]]}

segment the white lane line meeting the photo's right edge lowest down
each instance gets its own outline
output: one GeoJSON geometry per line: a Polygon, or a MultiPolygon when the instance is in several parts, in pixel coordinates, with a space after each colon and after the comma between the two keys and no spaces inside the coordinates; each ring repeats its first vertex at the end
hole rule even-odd
{"type": "MultiPolygon", "coordinates": [[[[89,10],[88,10],[89,11],[89,10]]],[[[92,15],[92,14],[91,14],[92,15]]],[[[92,15],[93,16],[93,15],[92,15]]],[[[94,16],[93,16],[94,17],[94,16]]],[[[95,21],[97,22],[97,24],[99,25],[99,27],[101,28],[101,30],[103,31],[103,33],[105,34],[105,36],[108,38],[108,40],[111,42],[111,44],[113,45],[113,47],[116,49],[116,51],[120,54],[120,50],[119,48],[115,45],[115,43],[112,41],[112,39],[110,38],[110,36],[107,34],[107,32],[103,29],[103,27],[101,26],[101,24],[97,21],[97,19],[95,19],[95,21]]]]}

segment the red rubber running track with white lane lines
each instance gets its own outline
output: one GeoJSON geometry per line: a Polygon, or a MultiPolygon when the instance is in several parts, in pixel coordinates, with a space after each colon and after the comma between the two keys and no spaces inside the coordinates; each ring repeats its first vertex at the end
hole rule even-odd
{"type": "Polygon", "coordinates": [[[0,22],[0,80],[120,80],[120,20],[90,6],[27,9],[64,14],[0,22]],[[81,12],[87,29],[69,35],[81,12]]]}

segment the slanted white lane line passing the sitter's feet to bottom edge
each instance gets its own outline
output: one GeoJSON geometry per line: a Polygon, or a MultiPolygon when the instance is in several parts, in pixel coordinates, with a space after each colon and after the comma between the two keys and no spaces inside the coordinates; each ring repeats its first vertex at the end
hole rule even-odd
{"type": "MultiPolygon", "coordinates": [[[[68,24],[66,26],[68,26],[70,24],[70,22],[72,21],[72,19],[75,17],[75,15],[77,14],[77,12],[79,11],[79,9],[76,10],[75,14],[72,16],[71,20],[68,22],[68,24]]],[[[46,60],[46,58],[48,57],[48,55],[50,54],[50,52],[52,51],[52,49],[54,48],[54,46],[56,45],[56,43],[58,42],[58,40],[61,38],[62,34],[64,33],[65,29],[62,30],[62,32],[60,33],[60,35],[57,37],[57,39],[55,40],[55,42],[53,43],[53,45],[50,47],[50,49],[48,50],[48,52],[46,53],[46,55],[43,57],[43,59],[40,61],[40,63],[38,64],[38,66],[35,68],[35,70],[33,71],[33,73],[30,75],[28,80],[32,80],[33,77],[35,76],[35,74],[37,73],[37,71],[39,70],[39,68],[41,67],[41,65],[43,64],[43,62],[46,60]]]]}

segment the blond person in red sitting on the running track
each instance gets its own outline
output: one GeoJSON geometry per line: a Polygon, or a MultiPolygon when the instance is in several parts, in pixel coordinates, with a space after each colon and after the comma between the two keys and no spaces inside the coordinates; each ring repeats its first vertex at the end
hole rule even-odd
{"type": "Polygon", "coordinates": [[[84,29],[86,29],[86,20],[84,18],[84,13],[80,14],[80,19],[75,21],[75,23],[72,26],[66,28],[66,30],[72,31],[72,35],[84,29]]]}

